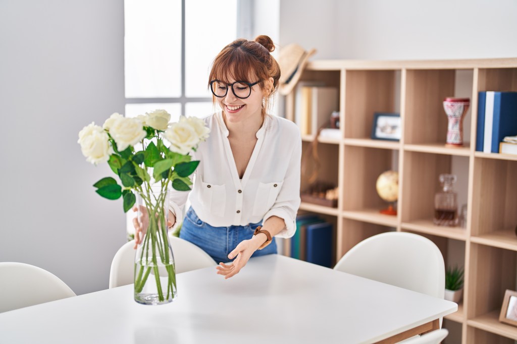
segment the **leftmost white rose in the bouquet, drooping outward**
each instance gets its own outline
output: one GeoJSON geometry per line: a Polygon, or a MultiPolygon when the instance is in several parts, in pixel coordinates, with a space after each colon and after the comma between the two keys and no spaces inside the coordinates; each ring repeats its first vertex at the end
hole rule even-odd
{"type": "Polygon", "coordinates": [[[81,145],[81,152],[86,161],[94,165],[110,160],[113,148],[110,145],[108,134],[94,122],[84,127],[79,132],[78,144],[81,145]]]}

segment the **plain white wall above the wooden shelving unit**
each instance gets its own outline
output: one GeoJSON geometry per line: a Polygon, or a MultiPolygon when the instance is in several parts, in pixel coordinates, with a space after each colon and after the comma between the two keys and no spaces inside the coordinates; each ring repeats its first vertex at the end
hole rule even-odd
{"type": "Polygon", "coordinates": [[[515,0],[281,0],[280,40],[312,59],[517,56],[515,0]]]}

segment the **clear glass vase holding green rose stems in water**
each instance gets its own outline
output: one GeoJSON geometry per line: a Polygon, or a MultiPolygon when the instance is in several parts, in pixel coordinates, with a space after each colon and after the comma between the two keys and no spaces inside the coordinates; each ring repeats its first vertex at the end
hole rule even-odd
{"type": "Polygon", "coordinates": [[[142,193],[136,196],[138,218],[144,228],[148,223],[134,261],[134,300],[141,304],[165,304],[177,295],[174,255],[167,233],[168,205],[169,192],[163,186],[142,185],[142,193]]]}

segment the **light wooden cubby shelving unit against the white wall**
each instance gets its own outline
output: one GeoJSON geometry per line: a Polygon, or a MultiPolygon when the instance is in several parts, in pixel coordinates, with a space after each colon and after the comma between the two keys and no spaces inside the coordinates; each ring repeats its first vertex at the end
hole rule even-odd
{"type": "MultiPolygon", "coordinates": [[[[336,224],[336,261],[363,239],[386,231],[409,231],[433,240],[451,259],[449,245],[464,246],[465,287],[457,312],[462,343],[513,343],[517,327],[498,321],[506,289],[517,290],[517,156],[476,152],[478,91],[517,91],[517,58],[436,61],[312,61],[302,81],[339,89],[341,138],[320,138],[319,179],[339,186],[338,208],[303,203],[336,224]],[[459,75],[468,88],[457,87],[459,75]],[[469,97],[463,148],[445,147],[445,97],[469,97]],[[370,138],[374,112],[399,112],[400,142],[370,138]],[[468,172],[467,226],[432,222],[440,173],[461,163],[468,172]],[[388,169],[399,172],[398,215],[386,208],[375,181],[388,169]]],[[[295,92],[286,97],[286,117],[294,120],[295,92]]],[[[330,115],[330,114],[328,114],[330,115]]],[[[304,136],[308,149],[314,135],[304,136]]],[[[302,190],[307,186],[303,179],[302,190]]],[[[463,251],[462,251],[463,252],[463,251]]]]}

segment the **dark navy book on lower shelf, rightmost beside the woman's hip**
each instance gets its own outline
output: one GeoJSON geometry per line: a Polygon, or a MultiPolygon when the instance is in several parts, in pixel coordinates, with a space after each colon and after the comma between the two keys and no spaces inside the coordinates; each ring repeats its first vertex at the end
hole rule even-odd
{"type": "Polygon", "coordinates": [[[332,265],[332,225],[307,225],[307,261],[330,268],[332,265]]]}

